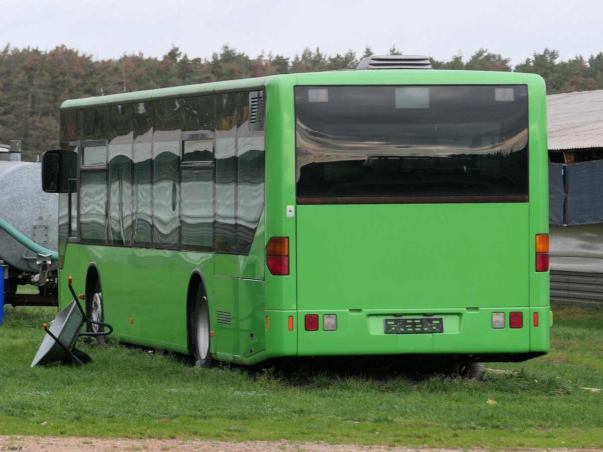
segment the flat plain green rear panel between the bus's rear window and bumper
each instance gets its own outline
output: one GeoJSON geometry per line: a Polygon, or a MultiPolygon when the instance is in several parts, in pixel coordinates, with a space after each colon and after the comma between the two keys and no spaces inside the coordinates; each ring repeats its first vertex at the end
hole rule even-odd
{"type": "Polygon", "coordinates": [[[528,205],[297,206],[298,309],[529,304],[528,205]]]}

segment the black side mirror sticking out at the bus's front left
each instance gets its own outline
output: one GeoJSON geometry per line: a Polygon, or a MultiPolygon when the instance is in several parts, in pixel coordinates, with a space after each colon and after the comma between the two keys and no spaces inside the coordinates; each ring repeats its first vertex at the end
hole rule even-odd
{"type": "Polygon", "coordinates": [[[42,190],[46,193],[74,193],[77,177],[75,151],[46,151],[42,154],[42,190]]]}

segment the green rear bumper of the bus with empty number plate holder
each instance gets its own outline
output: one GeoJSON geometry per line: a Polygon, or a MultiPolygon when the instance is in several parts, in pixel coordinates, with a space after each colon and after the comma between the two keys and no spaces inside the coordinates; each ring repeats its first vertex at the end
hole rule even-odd
{"type": "MultiPolygon", "coordinates": [[[[517,314],[514,314],[517,319],[517,314]]],[[[332,317],[330,317],[332,319],[332,317]]],[[[297,355],[455,354],[534,357],[549,350],[550,309],[504,307],[469,309],[397,309],[298,311],[297,355]],[[511,313],[520,313],[522,325],[510,325],[511,313]],[[493,327],[493,313],[504,325],[493,327]],[[538,321],[535,322],[534,314],[538,321]],[[318,315],[318,330],[306,331],[305,316],[318,315]],[[336,316],[336,329],[324,329],[324,316],[336,316]],[[390,319],[441,319],[442,332],[388,333],[390,319]]],[[[268,350],[268,341],[267,341],[268,350]]],[[[269,353],[272,354],[272,353],[269,353]]],[[[504,359],[497,359],[504,360],[504,359]]]]}

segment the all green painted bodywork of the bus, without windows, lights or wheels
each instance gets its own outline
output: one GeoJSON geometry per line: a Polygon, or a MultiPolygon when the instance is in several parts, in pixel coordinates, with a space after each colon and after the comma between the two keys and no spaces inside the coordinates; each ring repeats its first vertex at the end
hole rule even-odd
{"type": "Polygon", "coordinates": [[[548,233],[545,86],[537,75],[276,75],[66,101],[62,110],[259,86],[266,93],[265,210],[250,256],[69,243],[60,271],[62,306],[71,301],[66,277],[74,275],[83,292],[87,268],[95,263],[105,319],[120,339],[186,353],[186,293],[198,270],[210,306],[211,351],[219,360],[548,351],[548,272],[535,272],[534,236],[548,233]],[[299,84],[526,84],[529,202],[297,206],[294,86],[299,84]],[[294,216],[286,215],[288,206],[294,216]],[[264,266],[264,248],[273,236],[289,237],[288,276],[273,276],[264,266]],[[230,324],[218,323],[218,311],[232,314],[230,324]],[[492,312],[507,317],[522,312],[525,325],[493,330],[492,312]],[[531,324],[534,312],[540,315],[538,327],[531,324]],[[306,313],[336,314],[338,329],[305,331],[306,313]],[[383,321],[395,313],[441,316],[444,333],[385,334],[383,321]]]}

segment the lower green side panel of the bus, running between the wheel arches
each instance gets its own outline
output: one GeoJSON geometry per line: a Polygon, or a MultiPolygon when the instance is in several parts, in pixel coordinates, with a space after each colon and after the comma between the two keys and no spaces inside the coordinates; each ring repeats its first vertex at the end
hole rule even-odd
{"type": "Polygon", "coordinates": [[[72,299],[68,277],[74,277],[76,293],[84,293],[88,267],[94,263],[101,278],[105,321],[120,340],[187,353],[188,284],[199,269],[207,297],[213,299],[213,278],[207,277],[213,272],[210,254],[75,243],[67,250],[65,269],[59,272],[63,304],[72,299]]]}

